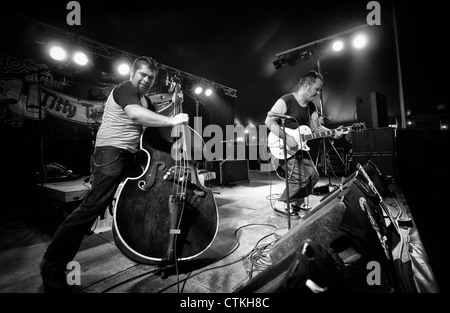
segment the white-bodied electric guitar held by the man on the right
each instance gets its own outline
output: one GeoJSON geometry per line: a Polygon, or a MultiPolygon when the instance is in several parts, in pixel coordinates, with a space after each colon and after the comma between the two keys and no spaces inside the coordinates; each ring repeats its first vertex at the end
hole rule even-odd
{"type": "MultiPolygon", "coordinates": [[[[295,138],[297,142],[297,150],[293,151],[292,149],[287,148],[286,154],[287,157],[291,157],[295,155],[297,151],[309,151],[310,148],[306,144],[308,140],[317,139],[322,137],[329,137],[336,134],[336,132],[342,132],[347,134],[349,131],[359,131],[366,128],[364,123],[355,123],[352,126],[341,127],[337,129],[330,129],[327,131],[321,131],[313,133],[311,128],[306,125],[301,125],[297,129],[286,128],[286,134],[291,135],[295,138]]],[[[282,138],[278,137],[274,133],[270,132],[267,136],[267,146],[270,149],[270,153],[277,159],[284,159],[284,141],[282,138]]]]}

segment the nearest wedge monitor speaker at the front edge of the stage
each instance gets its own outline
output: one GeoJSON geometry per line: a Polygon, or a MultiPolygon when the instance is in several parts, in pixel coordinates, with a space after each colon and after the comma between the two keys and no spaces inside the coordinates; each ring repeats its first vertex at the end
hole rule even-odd
{"type": "Polygon", "coordinates": [[[344,213],[345,205],[336,197],[318,208],[275,243],[269,254],[272,264],[240,286],[236,293],[303,293],[308,292],[304,286],[306,279],[326,287],[329,292],[350,292],[349,284],[329,253],[344,213]],[[305,243],[315,246],[313,255],[303,251],[305,243]]]}

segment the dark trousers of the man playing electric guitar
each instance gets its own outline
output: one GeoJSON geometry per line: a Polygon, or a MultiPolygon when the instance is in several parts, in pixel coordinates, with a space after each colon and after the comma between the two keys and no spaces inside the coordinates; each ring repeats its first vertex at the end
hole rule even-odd
{"type": "MultiPolygon", "coordinates": [[[[287,160],[287,168],[289,175],[289,203],[295,203],[309,196],[314,186],[319,182],[319,173],[314,163],[300,156],[294,156],[287,160]]],[[[287,202],[286,189],[279,198],[280,201],[287,202]]]]}

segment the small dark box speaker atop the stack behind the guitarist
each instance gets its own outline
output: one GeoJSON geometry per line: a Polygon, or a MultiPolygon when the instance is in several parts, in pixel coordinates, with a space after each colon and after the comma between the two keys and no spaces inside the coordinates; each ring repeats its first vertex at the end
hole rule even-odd
{"type": "Polygon", "coordinates": [[[388,111],[386,96],[371,92],[356,97],[356,112],[358,122],[366,124],[367,128],[388,126],[388,111]]]}

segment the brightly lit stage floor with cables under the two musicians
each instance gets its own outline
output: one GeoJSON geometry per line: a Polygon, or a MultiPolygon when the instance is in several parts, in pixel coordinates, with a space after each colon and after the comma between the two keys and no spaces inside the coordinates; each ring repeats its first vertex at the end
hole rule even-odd
{"type": "MultiPolygon", "coordinates": [[[[342,177],[322,177],[317,186],[340,185],[342,177]]],[[[189,266],[162,278],[156,266],[137,264],[117,248],[111,231],[87,236],[75,261],[81,269],[79,293],[232,293],[269,265],[271,244],[303,219],[280,216],[272,205],[285,182],[274,172],[250,171],[249,181],[213,187],[219,229],[211,246],[189,266]],[[290,228],[289,228],[290,226],[290,228]],[[266,249],[266,250],[264,250],[266,249]],[[259,257],[253,256],[258,253],[259,257]]],[[[326,194],[311,195],[314,207],[326,194]]],[[[0,240],[0,292],[42,293],[41,257],[52,236],[43,231],[40,210],[6,210],[0,240]]],[[[49,213],[44,216],[49,216],[49,213]]],[[[55,219],[57,221],[57,219],[55,219]]],[[[48,223],[47,223],[48,224],[48,223]]]]}

